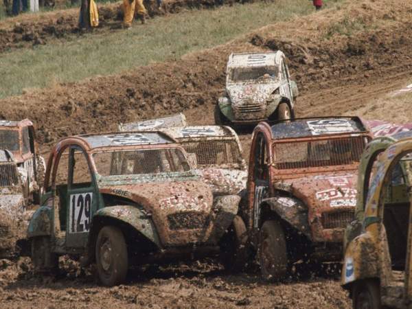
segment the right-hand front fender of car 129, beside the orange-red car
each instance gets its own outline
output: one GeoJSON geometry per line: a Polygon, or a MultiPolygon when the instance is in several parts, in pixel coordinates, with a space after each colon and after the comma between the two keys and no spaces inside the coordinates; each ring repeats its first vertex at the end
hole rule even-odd
{"type": "Polygon", "coordinates": [[[225,195],[218,196],[214,199],[214,211],[216,219],[214,220],[214,230],[211,233],[209,242],[216,243],[222,238],[233,222],[233,219],[238,214],[240,196],[225,195]]]}

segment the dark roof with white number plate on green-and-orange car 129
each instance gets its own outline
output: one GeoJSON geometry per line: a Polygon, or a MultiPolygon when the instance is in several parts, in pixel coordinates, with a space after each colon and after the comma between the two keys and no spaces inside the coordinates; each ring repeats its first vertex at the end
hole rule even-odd
{"type": "Polygon", "coordinates": [[[114,132],[100,133],[90,135],[77,135],[76,137],[83,139],[89,144],[89,148],[101,147],[124,147],[138,145],[160,145],[174,144],[176,141],[165,133],[150,131],[150,132],[114,132]]]}

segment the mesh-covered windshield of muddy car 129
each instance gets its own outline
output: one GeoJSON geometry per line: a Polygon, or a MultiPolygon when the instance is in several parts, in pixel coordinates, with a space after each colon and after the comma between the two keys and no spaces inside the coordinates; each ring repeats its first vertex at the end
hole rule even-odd
{"type": "Polygon", "coordinates": [[[187,172],[190,166],[177,148],[97,152],[93,155],[102,176],[187,172]]]}

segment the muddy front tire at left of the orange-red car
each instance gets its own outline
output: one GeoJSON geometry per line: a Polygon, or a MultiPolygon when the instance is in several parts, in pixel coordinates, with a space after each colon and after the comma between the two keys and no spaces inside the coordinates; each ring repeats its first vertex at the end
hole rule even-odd
{"type": "Polygon", "coordinates": [[[279,281],[288,271],[288,252],[282,225],[277,220],[267,220],[259,233],[258,258],[262,277],[279,281]]]}

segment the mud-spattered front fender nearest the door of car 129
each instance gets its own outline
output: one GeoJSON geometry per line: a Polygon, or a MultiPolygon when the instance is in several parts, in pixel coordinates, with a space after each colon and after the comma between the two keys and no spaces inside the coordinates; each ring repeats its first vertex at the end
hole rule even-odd
{"type": "Polygon", "coordinates": [[[137,231],[142,233],[148,240],[154,242],[157,247],[161,247],[155,224],[150,215],[148,215],[143,208],[129,205],[104,207],[95,213],[93,221],[103,217],[113,218],[128,223],[128,225],[131,225],[137,231]]]}

